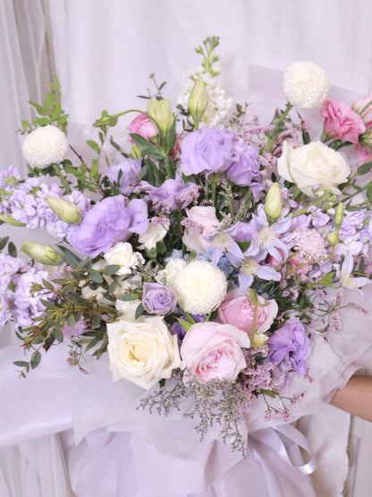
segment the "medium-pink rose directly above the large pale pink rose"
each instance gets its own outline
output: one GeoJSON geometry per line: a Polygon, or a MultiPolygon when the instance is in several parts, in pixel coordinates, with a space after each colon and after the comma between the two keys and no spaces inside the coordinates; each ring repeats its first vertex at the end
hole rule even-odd
{"type": "MultiPolygon", "coordinates": [[[[278,313],[278,304],[275,300],[265,300],[258,296],[256,311],[256,329],[258,333],[265,333],[275,320],[278,313]]],[[[224,324],[233,324],[240,330],[249,334],[253,333],[253,318],[255,304],[249,296],[243,294],[239,288],[231,290],[224,298],[217,314],[217,321],[224,324]]]]}

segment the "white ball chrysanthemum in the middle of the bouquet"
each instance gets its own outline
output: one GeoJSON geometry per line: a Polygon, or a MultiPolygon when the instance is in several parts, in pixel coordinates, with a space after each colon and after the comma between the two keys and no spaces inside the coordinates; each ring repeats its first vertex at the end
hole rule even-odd
{"type": "Polygon", "coordinates": [[[208,314],[220,305],[227,291],[222,270],[211,262],[191,261],[173,279],[178,304],[191,314],[208,314]]]}

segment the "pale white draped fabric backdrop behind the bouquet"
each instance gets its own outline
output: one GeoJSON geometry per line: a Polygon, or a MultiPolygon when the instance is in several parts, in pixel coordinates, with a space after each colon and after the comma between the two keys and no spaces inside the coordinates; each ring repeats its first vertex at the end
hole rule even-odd
{"type": "MultiPolygon", "coordinates": [[[[351,90],[343,91],[350,102],[352,91],[372,90],[372,4],[368,0],[235,0],[230,4],[224,0],[49,0],[49,6],[56,71],[63,85],[63,107],[71,116],[73,143],[88,136],[86,125],[103,108],[110,113],[143,108],[145,102],[135,96],[146,93],[151,72],[157,81],[168,81],[164,94],[173,98],[182,73],[199,64],[193,48],[210,35],[221,37],[218,53],[226,94],[235,101],[253,102],[252,111],[259,110],[267,120],[268,109],[271,112],[283,104],[280,74],[275,70],[282,71],[293,60],[321,64],[334,85],[351,90]]],[[[34,0],[30,7],[27,0],[0,0],[0,111],[6,116],[0,138],[3,168],[12,163],[23,167],[19,137],[13,131],[21,118],[30,118],[27,100],[40,100],[45,88],[46,27],[41,2],[34,0]]],[[[334,88],[332,94],[342,98],[340,89],[334,88]]],[[[123,144],[124,123],[117,129],[123,144]]],[[[342,475],[329,497],[340,495],[347,469],[349,416],[336,417],[338,424],[334,415],[331,423],[338,427],[339,437],[334,440],[332,435],[332,441],[334,451],[342,453],[342,475]]],[[[325,416],[321,419],[327,423],[325,416]]],[[[314,425],[312,430],[317,433],[314,425]]],[[[320,479],[329,471],[325,462],[320,479]]],[[[355,497],[364,495],[363,488],[366,485],[359,485],[355,497]]]]}

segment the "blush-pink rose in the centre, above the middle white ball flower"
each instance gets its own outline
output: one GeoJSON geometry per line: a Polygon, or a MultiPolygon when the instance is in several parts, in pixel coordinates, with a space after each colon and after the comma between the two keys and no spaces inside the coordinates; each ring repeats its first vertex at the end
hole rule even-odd
{"type": "Polygon", "coordinates": [[[220,221],[216,218],[216,209],[212,206],[195,206],[187,210],[185,219],[186,230],[182,236],[182,242],[188,250],[202,253],[211,246],[206,236],[216,235],[216,227],[220,221]]]}

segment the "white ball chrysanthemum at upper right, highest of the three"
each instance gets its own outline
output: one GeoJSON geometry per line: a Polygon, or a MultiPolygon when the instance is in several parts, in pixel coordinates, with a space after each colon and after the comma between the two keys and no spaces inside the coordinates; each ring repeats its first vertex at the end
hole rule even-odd
{"type": "Polygon", "coordinates": [[[294,107],[315,108],[322,105],[330,82],[325,71],[313,62],[297,61],[283,72],[282,91],[294,107]]]}

